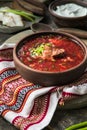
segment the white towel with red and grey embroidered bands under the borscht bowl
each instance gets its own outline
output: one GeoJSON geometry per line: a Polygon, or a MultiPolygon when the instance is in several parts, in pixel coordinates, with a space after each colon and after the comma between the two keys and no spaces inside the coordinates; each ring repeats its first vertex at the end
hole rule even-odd
{"type": "Polygon", "coordinates": [[[0,114],[20,130],[41,130],[50,123],[61,99],[87,93],[87,80],[66,87],[34,85],[16,71],[13,47],[0,47],[0,114]]]}

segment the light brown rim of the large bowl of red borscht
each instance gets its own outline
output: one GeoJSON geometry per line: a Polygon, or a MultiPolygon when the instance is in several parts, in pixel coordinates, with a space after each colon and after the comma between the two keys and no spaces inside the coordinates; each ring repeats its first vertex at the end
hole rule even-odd
{"type": "Polygon", "coordinates": [[[28,36],[25,36],[23,39],[21,39],[18,43],[16,43],[16,45],[14,46],[13,48],[13,60],[14,60],[14,57],[15,57],[15,61],[17,61],[21,66],[23,66],[23,68],[26,68],[27,70],[29,71],[32,71],[32,72],[36,72],[36,73],[41,73],[41,74],[62,74],[62,73],[67,73],[67,72],[70,72],[70,71],[73,71],[75,70],[76,68],[79,68],[82,64],[84,64],[84,62],[87,63],[87,46],[86,44],[80,40],[78,37],[72,35],[72,34],[69,34],[69,33],[66,33],[66,32],[58,32],[58,31],[43,31],[43,32],[37,32],[37,33],[33,33],[33,34],[30,34],[28,36]],[[75,43],[80,45],[81,48],[83,48],[85,50],[85,53],[84,53],[84,58],[83,60],[77,64],[76,66],[70,68],[70,69],[67,69],[65,71],[62,71],[62,72],[50,72],[50,71],[40,71],[40,70],[37,70],[37,69],[32,69],[30,68],[29,66],[25,65],[23,62],[20,61],[20,59],[18,58],[17,56],[17,47],[18,45],[23,42],[24,40],[26,40],[28,37],[31,37],[31,36],[34,36],[34,35],[43,35],[44,33],[56,33],[56,34],[60,34],[60,35],[64,35],[66,37],[70,37],[71,39],[73,39],[74,41],[76,41],[75,43]]]}

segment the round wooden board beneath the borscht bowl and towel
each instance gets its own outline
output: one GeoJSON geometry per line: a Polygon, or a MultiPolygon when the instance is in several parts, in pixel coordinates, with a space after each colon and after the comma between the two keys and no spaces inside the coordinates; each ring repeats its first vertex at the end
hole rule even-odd
{"type": "MultiPolygon", "coordinates": [[[[13,35],[9,39],[7,39],[3,44],[16,44],[18,43],[22,38],[33,34],[32,30],[26,30],[22,31],[20,33],[17,33],[16,35],[13,35]]],[[[87,45],[87,39],[81,39],[84,41],[84,43],[87,45]]],[[[75,100],[72,99],[70,101],[66,101],[64,107],[59,107],[58,109],[75,109],[87,106],[87,95],[81,96],[80,98],[76,98],[75,100]]]]}

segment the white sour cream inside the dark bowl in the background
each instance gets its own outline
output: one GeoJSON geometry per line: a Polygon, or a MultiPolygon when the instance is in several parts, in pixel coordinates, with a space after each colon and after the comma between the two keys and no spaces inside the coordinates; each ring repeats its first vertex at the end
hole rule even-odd
{"type": "Polygon", "coordinates": [[[64,17],[81,17],[87,15],[87,8],[74,3],[69,3],[57,6],[54,12],[64,17]]]}

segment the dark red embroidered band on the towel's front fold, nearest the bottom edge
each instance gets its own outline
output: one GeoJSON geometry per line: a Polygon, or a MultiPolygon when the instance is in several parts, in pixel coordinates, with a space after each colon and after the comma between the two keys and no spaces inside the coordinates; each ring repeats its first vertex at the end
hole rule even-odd
{"type": "Polygon", "coordinates": [[[39,123],[46,115],[49,106],[49,96],[41,96],[35,100],[34,107],[27,118],[17,117],[13,124],[22,129],[27,130],[31,125],[39,123]]]}

